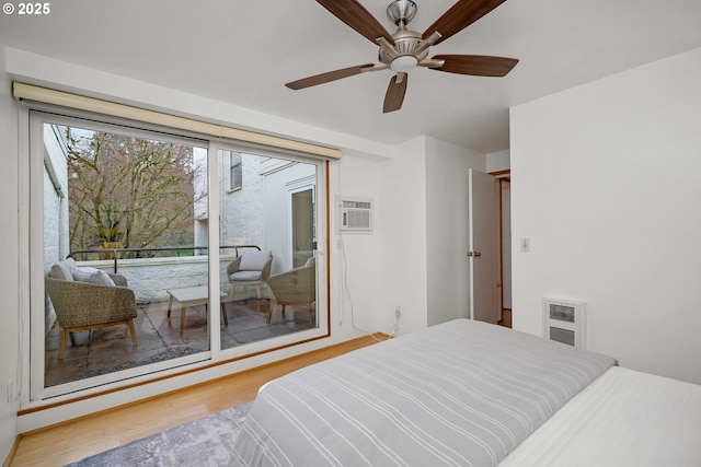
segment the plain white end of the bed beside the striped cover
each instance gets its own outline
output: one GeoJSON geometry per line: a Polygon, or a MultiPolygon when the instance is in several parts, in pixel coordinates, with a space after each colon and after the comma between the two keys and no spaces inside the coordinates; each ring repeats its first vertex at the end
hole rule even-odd
{"type": "Polygon", "coordinates": [[[701,386],[611,367],[499,467],[701,465],[701,386]]]}

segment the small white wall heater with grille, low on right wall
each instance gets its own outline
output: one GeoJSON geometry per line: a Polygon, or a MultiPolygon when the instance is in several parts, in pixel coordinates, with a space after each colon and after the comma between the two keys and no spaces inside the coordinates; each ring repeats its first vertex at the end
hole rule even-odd
{"type": "Polygon", "coordinates": [[[586,349],[586,303],[543,299],[544,335],[550,340],[586,349]]]}

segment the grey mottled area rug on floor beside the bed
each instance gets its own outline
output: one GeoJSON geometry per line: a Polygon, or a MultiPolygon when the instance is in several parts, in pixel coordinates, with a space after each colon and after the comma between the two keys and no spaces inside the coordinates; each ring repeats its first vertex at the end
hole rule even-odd
{"type": "Polygon", "coordinates": [[[252,402],[193,420],[124,446],[85,457],[67,467],[227,466],[252,402]]]}

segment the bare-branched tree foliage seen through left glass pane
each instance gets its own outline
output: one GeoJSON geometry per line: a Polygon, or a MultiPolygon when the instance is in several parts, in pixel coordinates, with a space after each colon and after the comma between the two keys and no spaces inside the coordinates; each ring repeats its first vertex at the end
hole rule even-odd
{"type": "Polygon", "coordinates": [[[193,243],[193,148],[66,128],[71,249],[193,243]]]}

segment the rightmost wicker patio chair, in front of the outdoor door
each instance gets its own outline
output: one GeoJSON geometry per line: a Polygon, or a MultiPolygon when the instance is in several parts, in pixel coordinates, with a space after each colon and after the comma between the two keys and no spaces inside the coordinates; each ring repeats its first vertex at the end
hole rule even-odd
{"type": "Polygon", "coordinates": [[[317,301],[317,262],[309,258],[304,266],[290,269],[267,278],[267,285],[273,292],[273,303],[265,317],[265,323],[271,323],[273,308],[276,304],[283,306],[283,319],[285,319],[285,306],[304,305],[309,313],[309,323],[313,323],[312,304],[317,301]]]}

